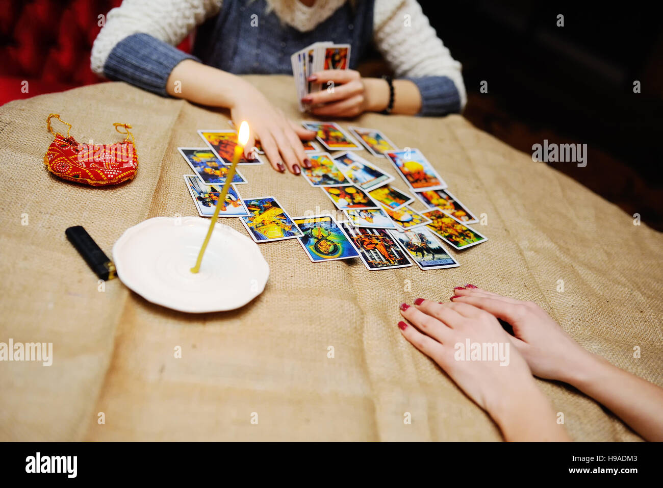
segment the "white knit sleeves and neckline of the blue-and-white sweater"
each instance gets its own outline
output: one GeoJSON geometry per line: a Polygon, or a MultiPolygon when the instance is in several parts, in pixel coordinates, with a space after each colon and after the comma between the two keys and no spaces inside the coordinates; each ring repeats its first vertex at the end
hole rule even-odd
{"type": "MultiPolygon", "coordinates": [[[[112,9],[92,46],[92,70],[103,65],[115,44],[138,32],[173,46],[197,25],[216,15],[223,0],[124,0],[112,9]]],[[[346,0],[316,0],[306,7],[299,0],[267,0],[278,17],[301,32],[326,21],[346,0]]],[[[373,41],[397,77],[447,76],[465,107],[467,95],[461,64],[436,35],[416,0],[375,0],[373,41]]]]}

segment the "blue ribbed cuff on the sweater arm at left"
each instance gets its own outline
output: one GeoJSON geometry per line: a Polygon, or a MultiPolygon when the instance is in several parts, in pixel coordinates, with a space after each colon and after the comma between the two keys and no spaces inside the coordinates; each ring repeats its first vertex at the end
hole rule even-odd
{"type": "Polygon", "coordinates": [[[103,65],[109,80],[120,80],[158,95],[168,96],[166,83],[185,59],[198,60],[149,34],[131,34],[115,44],[103,65]]]}

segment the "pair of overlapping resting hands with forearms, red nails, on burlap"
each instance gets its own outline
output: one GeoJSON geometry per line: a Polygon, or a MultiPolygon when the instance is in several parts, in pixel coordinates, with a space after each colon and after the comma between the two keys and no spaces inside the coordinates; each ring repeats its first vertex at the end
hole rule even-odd
{"type": "MultiPolygon", "coordinates": [[[[663,440],[663,389],[589,353],[534,302],[457,286],[450,302],[402,304],[404,337],[486,410],[505,440],[571,440],[534,377],[563,381],[601,402],[646,440],[663,440]],[[498,322],[512,326],[509,334],[498,322]],[[509,343],[508,365],[463,361],[457,343],[509,343]]],[[[569,419],[572,412],[565,413],[569,419]]]]}

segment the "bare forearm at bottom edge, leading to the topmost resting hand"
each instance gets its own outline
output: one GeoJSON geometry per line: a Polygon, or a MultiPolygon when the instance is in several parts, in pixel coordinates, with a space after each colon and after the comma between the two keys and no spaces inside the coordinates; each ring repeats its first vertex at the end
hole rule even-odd
{"type": "Polygon", "coordinates": [[[564,426],[556,422],[550,400],[532,383],[505,392],[489,404],[488,413],[507,442],[568,442],[564,426]]]}

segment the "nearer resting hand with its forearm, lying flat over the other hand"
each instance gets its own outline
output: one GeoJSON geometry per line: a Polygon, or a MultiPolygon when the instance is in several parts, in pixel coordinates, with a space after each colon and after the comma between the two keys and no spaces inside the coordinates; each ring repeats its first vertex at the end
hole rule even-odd
{"type": "Polygon", "coordinates": [[[522,356],[509,347],[509,334],[488,312],[469,304],[438,304],[417,298],[402,304],[402,334],[433,359],[455,383],[486,410],[506,440],[570,440],[558,426],[550,402],[536,387],[522,356]],[[467,342],[494,356],[478,358],[467,342]]]}

